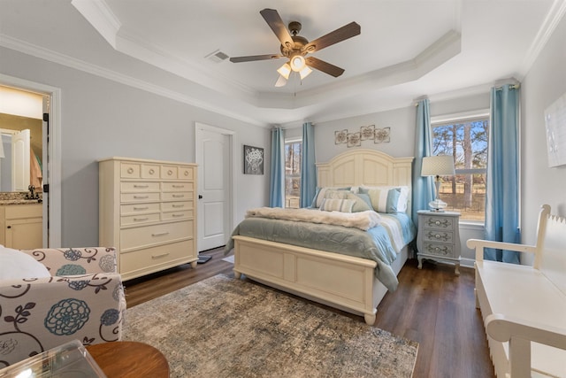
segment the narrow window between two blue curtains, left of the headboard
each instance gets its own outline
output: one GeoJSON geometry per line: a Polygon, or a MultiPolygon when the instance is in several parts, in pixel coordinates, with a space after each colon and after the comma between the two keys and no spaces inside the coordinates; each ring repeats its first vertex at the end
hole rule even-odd
{"type": "Polygon", "coordinates": [[[285,142],[285,207],[301,207],[302,141],[285,142]]]}

